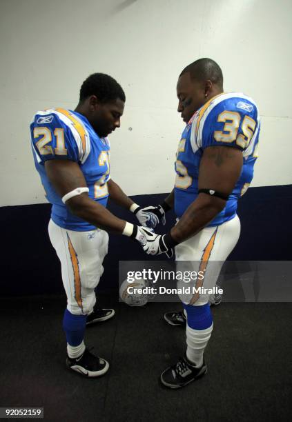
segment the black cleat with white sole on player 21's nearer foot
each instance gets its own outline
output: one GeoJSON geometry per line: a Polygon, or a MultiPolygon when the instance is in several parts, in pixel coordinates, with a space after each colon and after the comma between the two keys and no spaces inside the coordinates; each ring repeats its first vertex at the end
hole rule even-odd
{"type": "Polygon", "coordinates": [[[67,356],[66,365],[69,369],[79,372],[79,374],[88,378],[104,375],[110,367],[107,361],[95,356],[87,348],[79,358],[72,359],[67,356]]]}

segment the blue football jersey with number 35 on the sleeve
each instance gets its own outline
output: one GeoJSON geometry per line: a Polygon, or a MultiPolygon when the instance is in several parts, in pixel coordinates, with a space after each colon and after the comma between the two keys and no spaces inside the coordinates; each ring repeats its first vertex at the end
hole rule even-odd
{"type": "MultiPolygon", "coordinates": [[[[182,133],[175,162],[175,213],[182,217],[198,195],[199,163],[204,149],[224,145],[242,150],[242,172],[222,212],[208,224],[233,219],[240,198],[253,179],[257,159],[260,115],[255,102],[238,92],[213,97],[197,110],[182,133]]],[[[206,186],[212,189],[212,186],[206,186]]]]}

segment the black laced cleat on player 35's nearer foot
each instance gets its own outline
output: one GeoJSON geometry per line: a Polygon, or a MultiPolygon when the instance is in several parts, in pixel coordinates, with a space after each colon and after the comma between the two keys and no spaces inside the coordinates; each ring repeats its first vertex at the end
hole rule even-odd
{"type": "Polygon", "coordinates": [[[201,378],[207,372],[207,365],[203,362],[201,368],[196,368],[186,358],[179,359],[173,366],[169,366],[160,375],[160,381],[168,388],[182,388],[189,383],[201,378]]]}

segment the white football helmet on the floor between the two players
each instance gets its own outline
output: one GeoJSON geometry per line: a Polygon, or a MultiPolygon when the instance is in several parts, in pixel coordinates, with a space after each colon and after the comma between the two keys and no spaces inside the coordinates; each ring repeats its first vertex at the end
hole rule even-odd
{"type": "Polygon", "coordinates": [[[124,280],[119,288],[119,297],[129,306],[144,306],[148,302],[148,281],[135,280],[131,283],[124,280]],[[147,292],[137,292],[137,289],[146,289],[147,292]]]}

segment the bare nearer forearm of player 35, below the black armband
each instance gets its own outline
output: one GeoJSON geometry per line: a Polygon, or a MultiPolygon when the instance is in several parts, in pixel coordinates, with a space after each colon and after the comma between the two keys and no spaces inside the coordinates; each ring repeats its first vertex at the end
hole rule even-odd
{"type": "Polygon", "coordinates": [[[177,225],[171,229],[171,237],[181,243],[202,230],[216,215],[223,210],[226,201],[220,198],[199,194],[189,205],[177,225]]]}

